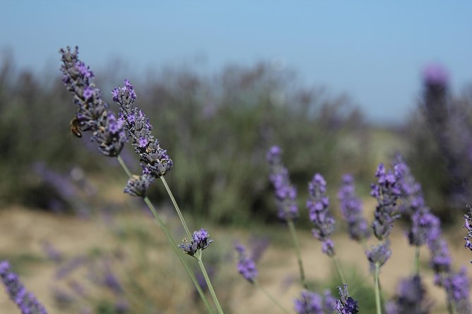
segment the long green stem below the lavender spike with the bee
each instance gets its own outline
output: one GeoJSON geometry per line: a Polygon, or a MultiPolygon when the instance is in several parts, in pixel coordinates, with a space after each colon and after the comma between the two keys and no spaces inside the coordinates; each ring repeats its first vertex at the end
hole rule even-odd
{"type": "MultiPolygon", "coordinates": [[[[133,177],[133,174],[129,170],[128,166],[126,165],[126,163],[124,163],[123,158],[121,158],[121,156],[117,156],[116,159],[118,159],[121,167],[123,167],[123,170],[125,170],[128,177],[133,177]]],[[[171,234],[169,232],[169,229],[167,229],[167,227],[164,224],[164,222],[162,221],[162,219],[159,217],[159,215],[157,215],[156,208],[154,207],[154,205],[152,205],[151,201],[147,198],[147,196],[144,198],[144,201],[145,201],[147,207],[150,209],[150,211],[151,211],[152,215],[154,216],[155,220],[157,220],[157,224],[159,225],[159,227],[162,229],[162,231],[166,235],[167,240],[171,244],[172,249],[174,249],[174,252],[176,253],[178,259],[181,261],[181,263],[183,265],[183,268],[185,268],[186,272],[190,276],[190,279],[192,280],[193,284],[195,285],[195,288],[197,289],[198,294],[202,298],[203,303],[205,303],[205,306],[207,307],[208,313],[213,314],[214,312],[212,310],[212,307],[210,306],[210,303],[208,303],[207,298],[205,297],[205,294],[203,293],[202,288],[200,287],[200,284],[198,284],[198,280],[195,277],[195,274],[193,274],[193,271],[190,270],[190,268],[188,267],[186,261],[183,259],[182,252],[178,249],[176,241],[174,241],[174,238],[171,236],[171,234]]]]}

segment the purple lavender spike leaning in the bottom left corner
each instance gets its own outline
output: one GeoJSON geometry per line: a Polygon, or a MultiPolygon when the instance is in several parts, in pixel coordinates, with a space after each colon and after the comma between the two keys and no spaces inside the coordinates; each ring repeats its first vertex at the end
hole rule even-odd
{"type": "Polygon", "coordinates": [[[0,262],[0,277],[10,299],[20,308],[21,313],[47,314],[35,296],[25,289],[18,276],[11,271],[10,264],[6,260],[0,262]]]}

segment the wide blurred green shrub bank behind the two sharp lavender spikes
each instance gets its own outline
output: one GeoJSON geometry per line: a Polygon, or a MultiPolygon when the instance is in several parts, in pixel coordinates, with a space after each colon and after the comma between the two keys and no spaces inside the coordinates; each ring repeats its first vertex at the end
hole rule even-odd
{"type": "MultiPolygon", "coordinates": [[[[37,161],[60,173],[75,165],[85,173],[107,172],[115,161],[91,154],[96,148],[87,139],[69,134],[75,108],[59,71],[51,79],[18,72],[11,64],[6,59],[0,70],[0,170],[8,178],[0,183],[0,199],[44,207],[44,198],[58,193],[32,171],[37,161]]],[[[104,74],[96,82],[110,101],[103,86],[122,84],[126,77],[111,80],[104,74]]],[[[361,113],[345,96],[300,87],[290,71],[266,63],[230,66],[214,77],[167,69],[131,82],[137,105],[150,116],[155,136],[174,160],[166,179],[181,206],[195,215],[217,222],[274,219],[265,161],[274,144],[284,149],[284,163],[301,194],[315,172],[325,175],[333,196],[343,172],[372,177],[361,113]]],[[[112,103],[111,108],[116,109],[112,103]]],[[[155,185],[152,198],[167,199],[155,185]]]]}

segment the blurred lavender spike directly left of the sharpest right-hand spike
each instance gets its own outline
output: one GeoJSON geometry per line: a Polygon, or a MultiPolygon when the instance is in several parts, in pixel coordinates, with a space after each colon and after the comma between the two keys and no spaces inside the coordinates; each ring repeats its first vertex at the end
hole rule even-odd
{"type": "Polygon", "coordinates": [[[362,215],[362,202],[356,196],[353,177],[344,175],[342,185],[338,191],[341,215],[348,225],[349,236],[356,241],[363,241],[370,237],[367,220],[362,215]]]}

